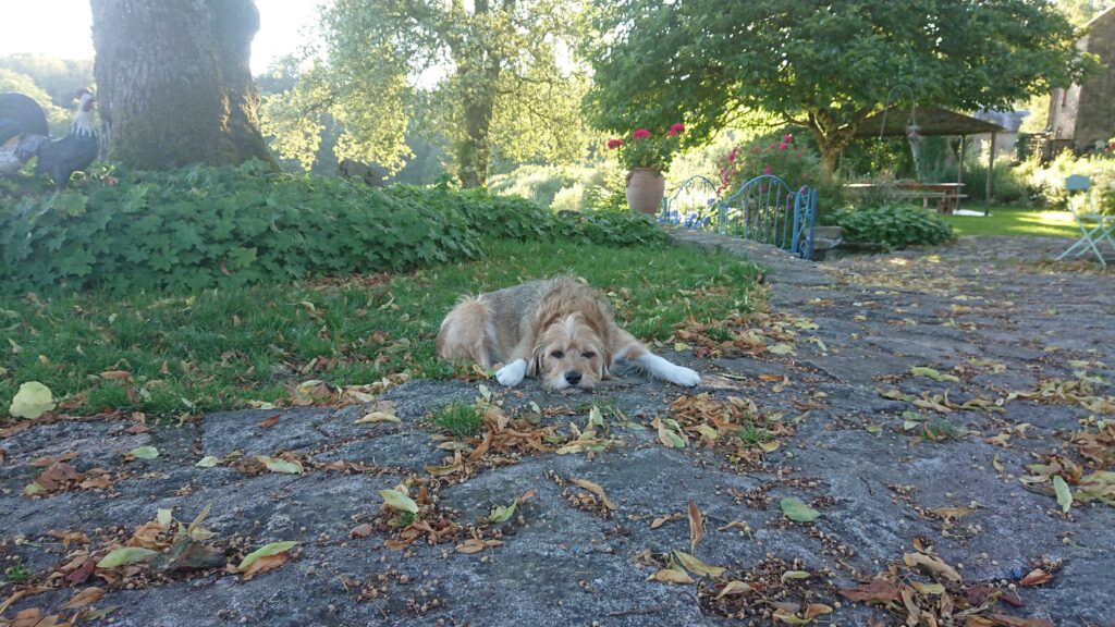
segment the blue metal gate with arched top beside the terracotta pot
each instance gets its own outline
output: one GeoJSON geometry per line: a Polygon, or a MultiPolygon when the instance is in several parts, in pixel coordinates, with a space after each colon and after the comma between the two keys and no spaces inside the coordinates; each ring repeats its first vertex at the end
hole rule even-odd
{"type": "Polygon", "coordinates": [[[691,176],[662,199],[659,222],[714,230],[812,259],[816,214],[816,190],[802,186],[795,191],[773,174],[756,176],[724,199],[711,181],[691,176]],[[701,202],[701,194],[708,193],[701,202]]]}

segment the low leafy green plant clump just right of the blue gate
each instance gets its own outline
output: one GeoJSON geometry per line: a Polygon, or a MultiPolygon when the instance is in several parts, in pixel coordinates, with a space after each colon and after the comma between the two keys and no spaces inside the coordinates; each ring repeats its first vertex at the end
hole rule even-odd
{"type": "Polygon", "coordinates": [[[943,218],[912,204],[841,210],[835,220],[845,240],[882,244],[886,249],[932,245],[954,239],[952,226],[943,218]]]}

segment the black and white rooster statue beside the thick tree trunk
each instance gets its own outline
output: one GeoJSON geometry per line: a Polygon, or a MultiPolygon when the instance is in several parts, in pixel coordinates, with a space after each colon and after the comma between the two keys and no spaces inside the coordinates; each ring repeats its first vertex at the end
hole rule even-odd
{"type": "Polygon", "coordinates": [[[64,187],[70,174],[88,167],[100,151],[94,119],[97,100],[86,89],[78,91],[78,98],[69,134],[56,139],[47,132],[47,115],[38,103],[22,94],[0,94],[0,176],[37,156],[35,174],[48,174],[64,187]]]}

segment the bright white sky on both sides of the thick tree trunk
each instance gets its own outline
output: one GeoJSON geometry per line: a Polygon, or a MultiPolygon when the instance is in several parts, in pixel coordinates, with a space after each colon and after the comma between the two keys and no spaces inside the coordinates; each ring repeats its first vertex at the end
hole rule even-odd
{"type": "MultiPolygon", "coordinates": [[[[293,52],[302,30],[317,19],[318,0],[255,0],[260,31],[252,41],[252,73],[293,52]]],[[[37,52],[62,59],[91,59],[89,0],[0,0],[4,23],[0,55],[37,52]]]]}

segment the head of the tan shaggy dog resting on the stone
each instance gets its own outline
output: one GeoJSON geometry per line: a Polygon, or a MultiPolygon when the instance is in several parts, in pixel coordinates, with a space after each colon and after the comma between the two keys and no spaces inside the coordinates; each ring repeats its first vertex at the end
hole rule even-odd
{"type": "Polygon", "coordinates": [[[554,392],[568,387],[592,389],[608,367],[600,332],[581,312],[553,320],[539,335],[531,359],[531,376],[554,392]]]}

